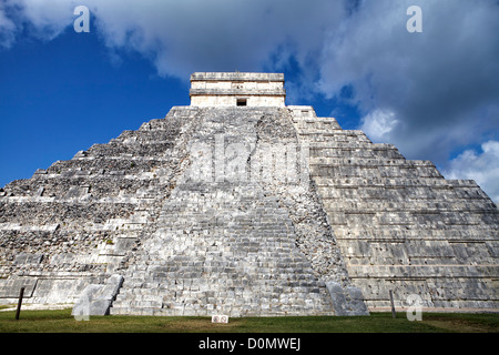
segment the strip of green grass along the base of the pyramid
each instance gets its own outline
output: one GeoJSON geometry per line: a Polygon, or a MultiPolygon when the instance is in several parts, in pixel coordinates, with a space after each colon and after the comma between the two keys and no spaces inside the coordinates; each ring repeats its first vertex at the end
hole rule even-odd
{"type": "Polygon", "coordinates": [[[499,314],[405,313],[333,317],[243,317],[212,324],[208,317],[91,316],[77,321],[71,310],[0,312],[0,333],[498,333],[499,314]]]}

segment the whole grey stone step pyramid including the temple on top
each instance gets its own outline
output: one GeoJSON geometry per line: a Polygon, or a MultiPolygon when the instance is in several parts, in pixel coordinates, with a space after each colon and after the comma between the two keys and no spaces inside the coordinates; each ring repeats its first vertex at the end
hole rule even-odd
{"type": "Polygon", "coordinates": [[[0,304],[499,311],[499,211],[473,181],[286,106],[283,74],[191,83],[191,105],[0,190],[0,304]]]}

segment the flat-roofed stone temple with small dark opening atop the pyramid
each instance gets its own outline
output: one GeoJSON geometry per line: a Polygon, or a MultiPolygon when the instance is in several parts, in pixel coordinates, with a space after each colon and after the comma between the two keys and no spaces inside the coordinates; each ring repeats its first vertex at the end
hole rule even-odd
{"type": "Polygon", "coordinates": [[[286,100],[282,73],[193,73],[192,106],[277,106],[286,100]]]}

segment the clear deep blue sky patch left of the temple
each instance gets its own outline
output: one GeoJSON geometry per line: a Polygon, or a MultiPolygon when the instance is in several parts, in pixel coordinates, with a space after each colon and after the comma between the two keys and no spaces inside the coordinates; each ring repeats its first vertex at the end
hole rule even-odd
{"type": "Polygon", "coordinates": [[[111,63],[95,33],[67,30],[0,51],[0,185],[189,104],[189,87],[139,54],[111,63]]]}

